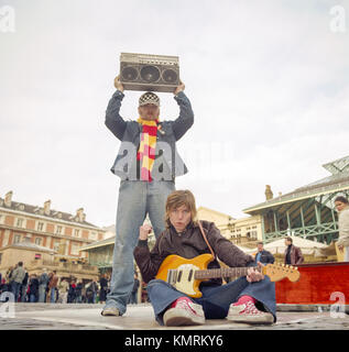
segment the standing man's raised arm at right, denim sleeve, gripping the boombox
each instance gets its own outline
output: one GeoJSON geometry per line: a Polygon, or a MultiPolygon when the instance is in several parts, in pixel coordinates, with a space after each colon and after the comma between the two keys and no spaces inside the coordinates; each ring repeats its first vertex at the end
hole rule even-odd
{"type": "Polygon", "coordinates": [[[179,106],[179,117],[173,123],[173,132],[178,141],[194,123],[194,112],[189,99],[184,94],[185,85],[181,85],[174,91],[174,99],[179,106]]]}

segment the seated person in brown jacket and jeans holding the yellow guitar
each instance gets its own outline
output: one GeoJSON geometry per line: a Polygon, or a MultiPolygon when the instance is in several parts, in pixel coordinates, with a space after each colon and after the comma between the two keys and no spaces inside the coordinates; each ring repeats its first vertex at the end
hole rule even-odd
{"type": "MultiPolygon", "coordinates": [[[[148,248],[150,226],[140,228],[134,257],[148,284],[148,294],[156,321],[167,327],[203,324],[206,319],[223,319],[247,323],[273,323],[276,321],[275,286],[268,276],[251,267],[248,275],[222,285],[221,279],[200,284],[200,298],[192,298],[162,279],[155,279],[166,256],[179,255],[193,258],[211,253],[196,220],[195,198],[189,190],[176,190],[166,201],[166,230],[157,239],[153,250],[148,248]]],[[[214,253],[230,267],[254,265],[253,257],[244,254],[223,238],[214,222],[200,221],[214,253]]],[[[219,268],[215,258],[208,268],[219,268]]]]}

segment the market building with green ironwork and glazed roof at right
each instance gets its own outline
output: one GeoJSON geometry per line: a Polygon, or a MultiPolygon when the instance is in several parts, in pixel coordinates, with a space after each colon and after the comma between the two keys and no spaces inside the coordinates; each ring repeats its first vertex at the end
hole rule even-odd
{"type": "Polygon", "coordinates": [[[349,156],[324,164],[331,175],[302,186],[292,193],[273,197],[266,186],[266,200],[247,208],[260,217],[264,243],[287,235],[330,244],[338,239],[338,215],[334,200],[349,194],[349,156]]]}

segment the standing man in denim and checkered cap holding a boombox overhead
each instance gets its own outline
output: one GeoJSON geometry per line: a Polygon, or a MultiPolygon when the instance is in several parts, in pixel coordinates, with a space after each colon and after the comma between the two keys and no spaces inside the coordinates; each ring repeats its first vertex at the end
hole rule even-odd
{"type": "Polygon", "coordinates": [[[110,293],[101,312],[103,316],[122,316],[126,312],[133,287],[133,250],[146,215],[156,238],[165,229],[166,198],[175,189],[175,177],[187,173],[176,151],[176,142],[194,123],[183,82],[174,91],[174,99],[179,106],[179,117],[175,121],[160,120],[160,99],[150,91],[139,99],[140,118],[124,121],[119,113],[124,97],[119,76],[114,87],[117,91],[107,108],[106,125],[121,141],[111,167],[121,183],[110,293]]]}

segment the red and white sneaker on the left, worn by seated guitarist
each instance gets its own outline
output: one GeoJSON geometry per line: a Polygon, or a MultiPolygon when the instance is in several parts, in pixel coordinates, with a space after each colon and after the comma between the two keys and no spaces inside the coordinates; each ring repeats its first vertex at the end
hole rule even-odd
{"type": "Polygon", "coordinates": [[[187,297],[179,297],[164,314],[166,327],[199,326],[205,323],[205,314],[200,305],[187,297]]]}

